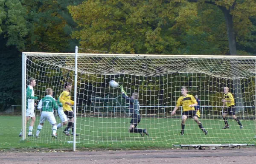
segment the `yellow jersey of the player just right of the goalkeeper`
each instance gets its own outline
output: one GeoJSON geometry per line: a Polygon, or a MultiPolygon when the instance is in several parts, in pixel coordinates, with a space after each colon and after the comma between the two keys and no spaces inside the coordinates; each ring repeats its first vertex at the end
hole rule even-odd
{"type": "Polygon", "coordinates": [[[187,94],[185,97],[180,96],[180,98],[177,100],[176,106],[182,106],[183,111],[189,111],[189,110],[195,110],[195,107],[189,107],[189,105],[197,103],[195,100],[195,97],[192,95],[187,94]]]}

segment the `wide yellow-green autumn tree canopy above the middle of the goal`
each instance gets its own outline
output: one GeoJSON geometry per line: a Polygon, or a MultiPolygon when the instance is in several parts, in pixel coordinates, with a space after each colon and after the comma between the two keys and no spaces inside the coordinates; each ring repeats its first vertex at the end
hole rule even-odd
{"type": "Polygon", "coordinates": [[[175,17],[169,3],[88,0],[68,8],[79,25],[73,37],[80,40],[83,48],[128,54],[169,54],[180,45],[176,40],[178,34],[169,30],[175,17]]]}

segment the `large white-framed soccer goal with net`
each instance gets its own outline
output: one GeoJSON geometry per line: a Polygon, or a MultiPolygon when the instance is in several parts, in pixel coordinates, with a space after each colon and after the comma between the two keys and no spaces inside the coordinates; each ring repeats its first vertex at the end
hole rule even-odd
{"type": "MultiPolygon", "coordinates": [[[[76,48],[77,52],[82,52],[76,48]]],[[[38,100],[46,88],[53,89],[55,99],[71,82],[76,133],[65,136],[57,131],[51,136],[51,125],[46,122],[34,142],[87,145],[146,145],[166,147],[172,144],[254,144],[256,134],[256,57],[209,55],[144,55],[144,54],[82,54],[82,53],[22,53],[22,109],[23,139],[26,139],[26,85],[36,79],[34,88],[38,100]],[[119,88],[111,88],[115,80],[128,96],[139,93],[141,121],[137,128],[146,129],[149,136],[129,133],[131,114],[129,103],[122,98],[119,88]],[[181,87],[200,99],[199,120],[208,130],[205,135],[191,118],[186,120],[184,135],[180,135],[182,107],[171,116],[181,87]],[[228,129],[222,118],[224,87],[235,99],[235,114],[243,125],[227,116],[228,129]]],[[[37,101],[38,104],[38,101],[37,101]]],[[[35,133],[40,111],[35,108],[35,133]]],[[[55,112],[57,123],[61,120],[55,112]]],[[[28,125],[27,125],[28,127],[28,125]]],[[[63,127],[64,128],[64,127],[63,127]]]]}

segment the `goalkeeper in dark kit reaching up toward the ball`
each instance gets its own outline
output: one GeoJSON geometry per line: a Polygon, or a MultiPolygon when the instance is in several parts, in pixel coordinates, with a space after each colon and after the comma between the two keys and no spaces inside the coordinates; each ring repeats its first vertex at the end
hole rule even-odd
{"type": "Polygon", "coordinates": [[[139,93],[132,93],[131,98],[127,96],[127,94],[124,91],[124,88],[122,85],[119,86],[122,92],[122,97],[125,98],[126,102],[128,102],[129,110],[132,114],[132,119],[130,122],[129,132],[130,133],[140,133],[140,135],[143,137],[144,134],[148,136],[148,132],[145,129],[138,129],[136,128],[137,125],[140,123],[140,103],[138,101],[139,99],[139,93]]]}

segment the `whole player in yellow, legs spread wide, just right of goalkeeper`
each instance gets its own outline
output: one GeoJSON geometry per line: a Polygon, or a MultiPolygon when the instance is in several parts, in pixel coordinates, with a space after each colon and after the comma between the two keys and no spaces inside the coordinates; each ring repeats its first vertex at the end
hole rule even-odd
{"type": "Polygon", "coordinates": [[[175,108],[173,109],[171,115],[174,116],[176,110],[180,106],[182,106],[183,107],[183,115],[181,117],[181,119],[182,119],[182,121],[181,121],[181,132],[180,132],[181,135],[184,134],[185,122],[186,122],[186,119],[188,119],[188,117],[191,117],[192,119],[194,119],[195,122],[200,127],[200,129],[204,132],[204,134],[207,135],[208,131],[204,129],[203,125],[198,120],[198,116],[196,115],[196,110],[195,110],[194,106],[198,105],[198,103],[196,102],[194,96],[187,94],[187,91],[188,90],[187,90],[186,87],[181,88],[182,96],[180,96],[180,98],[177,100],[177,104],[176,104],[175,108]]]}

